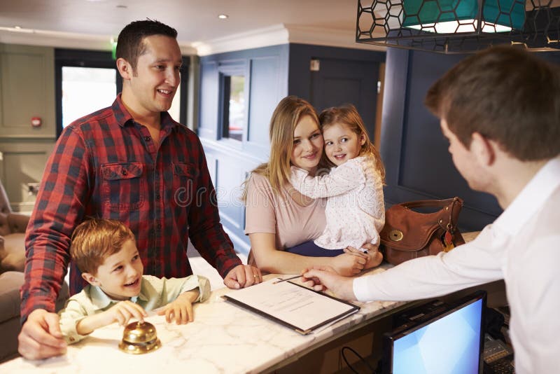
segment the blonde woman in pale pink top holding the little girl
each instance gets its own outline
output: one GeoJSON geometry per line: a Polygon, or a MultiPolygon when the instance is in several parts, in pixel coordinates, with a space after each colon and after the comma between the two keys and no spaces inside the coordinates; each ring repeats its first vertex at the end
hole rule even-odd
{"type": "Polygon", "coordinates": [[[270,120],[270,159],[253,170],[245,184],[245,234],[260,270],[298,274],[313,265],[330,265],[340,275],[355,275],[378,265],[377,248],[325,250],[312,256],[290,253],[325,228],[325,202],[300,194],[290,184],[293,165],[314,175],[323,154],[323,134],[313,106],[295,96],[279,102],[270,120]]]}

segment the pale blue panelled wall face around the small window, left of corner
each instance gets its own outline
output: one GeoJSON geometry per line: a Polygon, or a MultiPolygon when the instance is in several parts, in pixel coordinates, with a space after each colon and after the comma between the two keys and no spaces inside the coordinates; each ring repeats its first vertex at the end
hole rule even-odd
{"type": "Polygon", "coordinates": [[[270,116],[288,94],[288,45],[220,53],[200,59],[200,123],[198,134],[207,155],[218,194],[222,224],[238,251],[248,252],[244,235],[245,209],[239,199],[248,172],[268,159],[270,116]],[[221,138],[221,71],[244,71],[246,79],[246,130],[243,141],[221,138]]]}

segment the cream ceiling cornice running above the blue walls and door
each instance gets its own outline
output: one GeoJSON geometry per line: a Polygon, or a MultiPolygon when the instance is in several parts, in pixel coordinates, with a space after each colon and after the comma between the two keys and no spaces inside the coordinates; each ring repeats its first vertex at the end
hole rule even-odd
{"type": "Polygon", "coordinates": [[[207,56],[216,53],[277,46],[279,44],[288,43],[364,50],[386,50],[386,48],[381,46],[364,46],[363,43],[356,43],[356,36],[354,35],[353,29],[325,29],[288,24],[254,29],[250,32],[231,34],[209,41],[199,41],[193,43],[193,47],[196,48],[198,55],[207,56]]]}

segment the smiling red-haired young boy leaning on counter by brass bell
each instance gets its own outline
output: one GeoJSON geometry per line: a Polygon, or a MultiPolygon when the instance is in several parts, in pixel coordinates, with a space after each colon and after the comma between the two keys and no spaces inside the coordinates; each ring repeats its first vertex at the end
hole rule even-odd
{"type": "Polygon", "coordinates": [[[205,277],[143,275],[134,235],[119,221],[81,223],[73,232],[70,255],[89,285],[59,312],[60,329],[69,344],[113,322],[124,326],[131,318],[143,321],[146,310],[158,307],[167,322],[186,324],[193,321],[193,303],[206,300],[210,293],[205,277]]]}

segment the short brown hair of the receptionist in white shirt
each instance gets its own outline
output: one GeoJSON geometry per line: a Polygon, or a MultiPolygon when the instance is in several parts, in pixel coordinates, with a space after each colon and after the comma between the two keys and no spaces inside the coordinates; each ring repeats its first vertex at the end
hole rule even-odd
{"type": "Polygon", "coordinates": [[[428,90],[426,106],[467,147],[478,132],[521,161],[560,154],[559,67],[511,46],[459,62],[428,90]]]}

